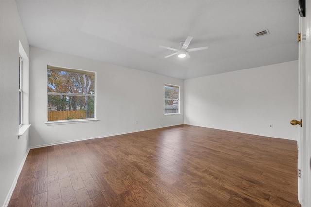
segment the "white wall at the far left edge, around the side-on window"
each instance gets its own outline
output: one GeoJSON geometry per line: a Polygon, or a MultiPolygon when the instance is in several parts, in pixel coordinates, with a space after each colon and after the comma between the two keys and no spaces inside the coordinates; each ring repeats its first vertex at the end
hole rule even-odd
{"type": "Polygon", "coordinates": [[[29,45],[14,0],[0,0],[0,206],[5,206],[27,153],[27,133],[18,139],[19,41],[29,45]]]}

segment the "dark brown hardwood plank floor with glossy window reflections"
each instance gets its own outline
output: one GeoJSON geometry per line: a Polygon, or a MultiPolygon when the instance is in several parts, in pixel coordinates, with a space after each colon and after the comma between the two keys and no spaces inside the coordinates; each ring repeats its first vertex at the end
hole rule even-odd
{"type": "Polygon", "coordinates": [[[189,125],[37,148],[9,207],[299,207],[297,154],[189,125]]]}

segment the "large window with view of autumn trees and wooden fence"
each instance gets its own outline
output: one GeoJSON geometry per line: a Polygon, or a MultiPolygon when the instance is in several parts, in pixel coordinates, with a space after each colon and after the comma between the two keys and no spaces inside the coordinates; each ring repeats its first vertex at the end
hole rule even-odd
{"type": "Polygon", "coordinates": [[[95,73],[48,66],[48,121],[95,119],[95,73]]]}

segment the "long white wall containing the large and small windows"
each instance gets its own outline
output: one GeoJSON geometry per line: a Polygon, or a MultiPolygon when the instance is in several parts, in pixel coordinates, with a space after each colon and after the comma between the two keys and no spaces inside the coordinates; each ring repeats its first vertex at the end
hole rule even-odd
{"type": "Polygon", "coordinates": [[[104,137],[183,124],[181,114],[164,116],[164,84],[181,86],[181,79],[77,56],[30,47],[30,146],[84,138],[104,137]],[[97,72],[97,118],[99,121],[49,125],[47,121],[47,65],[97,72]],[[162,121],[160,121],[162,119],[162,121]],[[134,124],[137,120],[138,124],[134,124]]]}

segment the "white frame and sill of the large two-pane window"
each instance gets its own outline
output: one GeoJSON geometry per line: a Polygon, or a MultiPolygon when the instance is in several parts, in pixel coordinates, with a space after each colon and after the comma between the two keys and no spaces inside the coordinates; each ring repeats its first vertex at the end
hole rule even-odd
{"type": "Polygon", "coordinates": [[[65,96],[89,96],[89,97],[94,97],[94,117],[91,118],[85,118],[85,119],[70,119],[70,120],[52,120],[49,121],[49,109],[47,107],[46,109],[46,120],[45,122],[46,125],[61,125],[61,124],[71,124],[71,123],[82,123],[82,122],[96,122],[98,119],[96,119],[96,83],[97,83],[97,74],[95,71],[88,71],[88,70],[82,70],[82,69],[71,69],[71,68],[65,68],[65,67],[59,67],[59,66],[52,66],[52,65],[47,65],[47,73],[48,70],[58,70],[58,71],[64,71],[64,72],[71,72],[71,73],[80,73],[80,74],[89,74],[89,75],[94,75],[94,94],[84,94],[84,93],[60,93],[60,92],[49,92],[48,91],[48,75],[46,76],[47,78],[47,97],[46,97],[46,106],[49,104],[49,95],[65,95],[65,96]]]}

